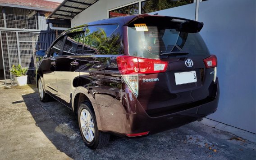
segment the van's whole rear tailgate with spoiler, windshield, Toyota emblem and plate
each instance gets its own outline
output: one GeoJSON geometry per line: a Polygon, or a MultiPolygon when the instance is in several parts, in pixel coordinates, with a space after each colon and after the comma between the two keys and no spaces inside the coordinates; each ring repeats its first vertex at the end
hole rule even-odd
{"type": "Polygon", "coordinates": [[[150,116],[212,100],[215,69],[206,69],[204,59],[210,53],[200,27],[199,22],[174,17],[144,17],[128,24],[130,56],[168,62],[165,72],[138,74],[137,99],[150,116]]]}

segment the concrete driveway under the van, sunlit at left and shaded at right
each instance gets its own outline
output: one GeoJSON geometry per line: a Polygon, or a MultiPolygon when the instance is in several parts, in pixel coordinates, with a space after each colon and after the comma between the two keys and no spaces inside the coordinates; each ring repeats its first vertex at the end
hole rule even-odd
{"type": "Polygon", "coordinates": [[[82,142],[77,116],[57,101],[42,103],[35,85],[0,87],[0,108],[1,160],[256,159],[256,143],[201,122],[144,138],[111,137],[93,151],[82,142]]]}

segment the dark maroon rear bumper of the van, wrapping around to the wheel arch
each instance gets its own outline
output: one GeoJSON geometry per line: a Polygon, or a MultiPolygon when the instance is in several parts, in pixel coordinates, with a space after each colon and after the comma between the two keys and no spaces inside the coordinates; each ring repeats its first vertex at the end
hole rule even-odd
{"type": "Polygon", "coordinates": [[[211,97],[210,102],[158,117],[149,116],[138,102],[132,104],[136,106],[136,109],[133,110],[133,108],[127,108],[119,100],[115,99],[113,105],[107,108],[98,106],[99,115],[104,115],[100,118],[101,131],[126,137],[125,134],[146,131],[152,134],[197,121],[217,110],[219,102],[218,81],[215,83],[214,92],[214,97],[211,97]]]}

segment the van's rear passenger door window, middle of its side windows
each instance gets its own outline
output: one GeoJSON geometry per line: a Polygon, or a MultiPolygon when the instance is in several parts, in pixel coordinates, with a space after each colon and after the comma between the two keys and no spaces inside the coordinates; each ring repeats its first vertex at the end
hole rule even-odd
{"type": "Polygon", "coordinates": [[[76,54],[80,35],[81,32],[71,33],[67,35],[62,55],[76,54]]]}

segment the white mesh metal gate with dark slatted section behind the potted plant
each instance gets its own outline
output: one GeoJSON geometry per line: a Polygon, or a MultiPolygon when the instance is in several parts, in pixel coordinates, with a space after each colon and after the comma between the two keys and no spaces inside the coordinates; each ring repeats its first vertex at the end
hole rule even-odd
{"type": "Polygon", "coordinates": [[[35,76],[37,49],[47,49],[55,39],[53,32],[0,31],[1,51],[3,58],[5,85],[14,83],[10,73],[12,65],[20,64],[28,68],[28,79],[35,76]]]}

